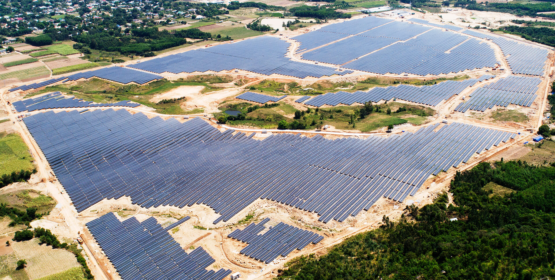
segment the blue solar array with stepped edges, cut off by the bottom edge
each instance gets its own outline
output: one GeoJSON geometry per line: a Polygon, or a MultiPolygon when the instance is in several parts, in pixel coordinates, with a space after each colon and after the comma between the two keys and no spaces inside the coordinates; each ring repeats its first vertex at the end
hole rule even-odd
{"type": "Polygon", "coordinates": [[[87,223],[123,280],[221,280],[229,269],[206,269],[215,260],[202,247],[185,253],[154,217],[121,222],[109,212],[87,223]]]}

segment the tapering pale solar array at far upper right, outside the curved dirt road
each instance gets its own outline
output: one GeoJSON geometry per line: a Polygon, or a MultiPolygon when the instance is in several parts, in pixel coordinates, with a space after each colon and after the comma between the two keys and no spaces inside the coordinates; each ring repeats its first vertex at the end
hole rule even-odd
{"type": "Polygon", "coordinates": [[[545,72],[543,68],[549,54],[549,51],[545,48],[519,43],[493,34],[483,34],[474,30],[465,30],[463,33],[482,39],[491,39],[493,43],[501,48],[514,74],[542,76],[545,72]]]}

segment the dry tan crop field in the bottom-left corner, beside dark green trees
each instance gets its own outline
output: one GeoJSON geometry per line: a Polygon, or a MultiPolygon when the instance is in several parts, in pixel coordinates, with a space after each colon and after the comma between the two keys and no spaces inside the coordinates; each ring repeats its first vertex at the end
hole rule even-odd
{"type": "Polygon", "coordinates": [[[53,249],[52,246],[40,245],[38,238],[28,241],[12,242],[17,259],[25,259],[24,268],[31,280],[40,279],[55,273],[65,272],[80,264],[72,252],[53,249]]]}

